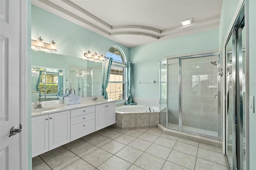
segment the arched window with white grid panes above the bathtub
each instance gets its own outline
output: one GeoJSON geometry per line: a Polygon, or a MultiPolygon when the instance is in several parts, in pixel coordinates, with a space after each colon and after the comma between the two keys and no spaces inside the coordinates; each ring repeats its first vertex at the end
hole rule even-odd
{"type": "Polygon", "coordinates": [[[112,57],[112,67],[107,87],[108,98],[114,100],[126,99],[126,57],[120,47],[112,46],[106,57],[112,57]]]}

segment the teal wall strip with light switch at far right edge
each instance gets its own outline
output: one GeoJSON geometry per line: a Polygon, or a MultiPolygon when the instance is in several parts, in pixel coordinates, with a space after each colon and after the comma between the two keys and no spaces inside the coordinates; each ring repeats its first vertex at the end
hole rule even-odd
{"type": "MultiPolygon", "coordinates": [[[[256,1],[249,0],[248,25],[249,25],[249,93],[250,96],[256,97],[256,1]]],[[[255,101],[254,101],[255,104],[255,101]]],[[[255,108],[255,106],[254,106],[255,108]]],[[[256,111],[256,109],[255,109],[256,111]]],[[[249,148],[250,148],[250,166],[248,169],[256,169],[256,112],[249,112],[249,148]]]]}

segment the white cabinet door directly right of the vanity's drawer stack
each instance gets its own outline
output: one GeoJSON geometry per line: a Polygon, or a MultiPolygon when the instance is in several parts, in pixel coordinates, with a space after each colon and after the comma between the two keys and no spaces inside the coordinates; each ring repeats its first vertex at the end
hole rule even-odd
{"type": "Polygon", "coordinates": [[[107,126],[106,108],[106,104],[95,106],[95,131],[107,126]]]}

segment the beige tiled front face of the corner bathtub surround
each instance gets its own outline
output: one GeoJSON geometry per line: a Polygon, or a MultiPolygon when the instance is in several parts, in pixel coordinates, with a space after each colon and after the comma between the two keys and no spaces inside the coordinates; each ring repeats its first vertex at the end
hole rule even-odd
{"type": "Polygon", "coordinates": [[[157,127],[160,123],[160,113],[116,113],[116,127],[126,128],[148,128],[157,127]]]}

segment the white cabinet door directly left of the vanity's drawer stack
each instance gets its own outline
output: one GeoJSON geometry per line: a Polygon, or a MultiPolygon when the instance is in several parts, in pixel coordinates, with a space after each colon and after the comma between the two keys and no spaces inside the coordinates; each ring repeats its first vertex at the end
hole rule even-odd
{"type": "Polygon", "coordinates": [[[70,142],[70,111],[49,114],[49,150],[70,142]]]}

